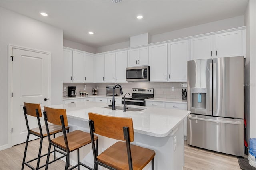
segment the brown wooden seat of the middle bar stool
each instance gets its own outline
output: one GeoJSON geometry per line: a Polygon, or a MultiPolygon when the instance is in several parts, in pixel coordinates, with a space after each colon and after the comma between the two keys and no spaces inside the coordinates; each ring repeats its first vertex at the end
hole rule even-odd
{"type": "MultiPolygon", "coordinates": [[[[67,139],[68,139],[68,148],[70,152],[91,143],[90,133],[86,133],[80,130],[69,132],[67,134],[67,139]]],[[[94,139],[97,140],[98,136],[94,135],[94,139]]],[[[56,144],[57,146],[60,146],[65,150],[67,149],[64,136],[59,136],[57,138],[52,139],[52,143],[56,144]]]]}

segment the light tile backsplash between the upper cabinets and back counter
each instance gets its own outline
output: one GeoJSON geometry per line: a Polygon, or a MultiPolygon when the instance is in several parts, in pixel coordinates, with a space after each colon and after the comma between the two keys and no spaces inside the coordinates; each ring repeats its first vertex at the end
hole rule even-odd
{"type": "MultiPolygon", "coordinates": [[[[91,95],[92,88],[98,87],[99,95],[106,95],[106,86],[114,85],[116,83],[63,83],[63,87],[66,87],[66,92],[63,96],[68,95],[68,86],[76,86],[77,95],[79,91],[84,91],[84,85],[86,85],[86,92],[91,95]]],[[[182,87],[183,89],[187,86],[186,82],[182,83],[150,83],[150,82],[129,82],[129,83],[118,83],[122,86],[124,93],[130,93],[132,95],[132,88],[154,88],[154,97],[157,98],[170,98],[170,99],[182,99],[182,87]],[[172,91],[174,87],[174,91],[172,91]]]]}

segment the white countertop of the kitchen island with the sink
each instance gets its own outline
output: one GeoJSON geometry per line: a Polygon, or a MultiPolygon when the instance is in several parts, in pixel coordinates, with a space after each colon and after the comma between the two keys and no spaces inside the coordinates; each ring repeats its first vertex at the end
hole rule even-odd
{"type": "MultiPolygon", "coordinates": [[[[190,111],[178,109],[165,109],[154,107],[139,107],[146,108],[142,111],[126,111],[104,108],[108,105],[101,102],[78,102],[61,105],[53,105],[53,108],[66,109],[67,116],[73,119],[88,121],[88,113],[94,112],[102,115],[110,115],[116,117],[131,117],[134,124],[134,132],[146,134],[154,137],[166,137],[179,123],[181,123],[190,114],[190,111]]],[[[123,106],[123,105],[116,105],[123,106]]]]}

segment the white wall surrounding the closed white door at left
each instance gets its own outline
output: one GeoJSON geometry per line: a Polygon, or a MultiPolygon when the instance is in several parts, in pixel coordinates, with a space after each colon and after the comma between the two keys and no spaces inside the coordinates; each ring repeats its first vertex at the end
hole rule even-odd
{"type": "Polygon", "coordinates": [[[63,30],[1,8],[0,148],[8,144],[8,44],[51,53],[51,104],[62,103],[63,30]]]}

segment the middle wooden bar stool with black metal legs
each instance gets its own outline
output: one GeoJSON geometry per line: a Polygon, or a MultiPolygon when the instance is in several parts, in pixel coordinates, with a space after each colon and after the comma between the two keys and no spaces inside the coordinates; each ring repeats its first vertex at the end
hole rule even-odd
{"type": "MultiPolygon", "coordinates": [[[[73,132],[70,132],[66,134],[65,126],[68,126],[68,118],[66,114],[66,109],[54,109],[50,107],[44,106],[44,121],[46,125],[46,131],[48,134],[48,140],[49,140],[49,148],[48,148],[48,156],[46,160],[46,167],[45,169],[48,169],[48,164],[52,163],[49,162],[50,158],[50,148],[51,146],[55,146],[59,148],[62,151],[66,152],[66,166],[65,170],[68,169],[68,162],[69,162],[69,154],[70,152],[73,152],[74,150],[77,150],[77,164],[73,166],[71,169],[78,168],[80,169],[80,165],[84,166],[87,169],[92,170],[89,166],[83,164],[79,161],[79,148],[90,144],[91,143],[91,137],[90,133],[83,132],[81,130],[75,130],[73,132]],[[51,139],[49,137],[49,128],[48,128],[48,122],[54,124],[54,125],[61,125],[62,126],[62,132],[63,135],[59,136],[57,138],[51,139]]],[[[98,136],[93,135],[94,140],[96,140],[96,151],[98,152],[98,136]]],[[[95,145],[94,145],[95,148],[95,145]]]]}

